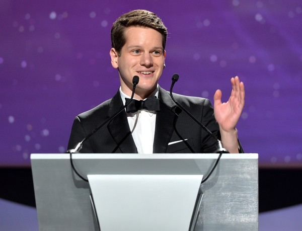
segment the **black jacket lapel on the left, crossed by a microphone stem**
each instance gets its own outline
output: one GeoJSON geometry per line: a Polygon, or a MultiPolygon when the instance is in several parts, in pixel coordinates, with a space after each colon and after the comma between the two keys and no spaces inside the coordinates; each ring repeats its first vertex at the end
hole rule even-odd
{"type": "MultiPolygon", "coordinates": [[[[122,106],[123,102],[120,97],[120,93],[117,92],[117,94],[111,100],[108,116],[112,116],[114,113],[119,111],[122,106]]],[[[120,149],[122,153],[137,153],[125,110],[113,118],[107,127],[112,138],[117,143],[116,147],[113,149],[113,152],[118,152],[116,150],[120,149]]]]}

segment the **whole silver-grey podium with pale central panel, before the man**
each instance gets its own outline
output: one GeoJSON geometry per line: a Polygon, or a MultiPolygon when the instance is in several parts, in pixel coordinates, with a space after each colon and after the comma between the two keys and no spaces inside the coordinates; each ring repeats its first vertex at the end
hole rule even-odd
{"type": "Polygon", "coordinates": [[[217,158],[73,154],[86,182],[72,170],[69,154],[32,154],[39,228],[258,230],[258,154],[223,154],[200,185],[217,158]]]}

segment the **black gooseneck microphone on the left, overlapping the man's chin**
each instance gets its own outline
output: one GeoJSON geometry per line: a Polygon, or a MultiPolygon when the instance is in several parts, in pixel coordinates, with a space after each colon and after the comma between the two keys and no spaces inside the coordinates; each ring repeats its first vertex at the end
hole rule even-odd
{"type": "Polygon", "coordinates": [[[134,97],[134,92],[135,92],[135,87],[139,82],[139,78],[137,75],[133,76],[132,79],[132,84],[133,84],[133,88],[132,88],[132,95],[131,98],[129,100],[129,102],[127,104],[125,104],[123,107],[121,107],[121,109],[119,111],[117,111],[116,113],[114,113],[111,117],[109,117],[107,120],[105,120],[102,124],[100,124],[99,126],[97,126],[92,132],[90,132],[81,142],[79,142],[77,145],[75,145],[75,147],[73,149],[69,149],[66,151],[66,153],[80,153],[80,150],[83,147],[83,143],[90,137],[92,136],[97,130],[99,130],[101,127],[103,127],[106,123],[108,123],[109,121],[111,121],[114,117],[116,117],[118,114],[120,114],[127,106],[128,104],[130,104],[130,102],[133,100],[134,97]]]}

